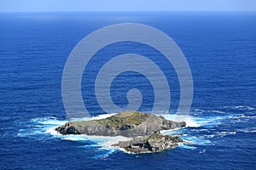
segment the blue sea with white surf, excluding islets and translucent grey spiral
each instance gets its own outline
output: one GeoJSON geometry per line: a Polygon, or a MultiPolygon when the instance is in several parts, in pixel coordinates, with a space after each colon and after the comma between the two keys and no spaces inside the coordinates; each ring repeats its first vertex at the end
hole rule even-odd
{"type": "MultiPolygon", "coordinates": [[[[256,169],[256,14],[3,13],[0,23],[0,169],[256,169]],[[72,49],[92,31],[127,22],[154,26],[183,50],[194,81],[188,127],[164,133],[191,144],[136,155],[109,147],[117,138],[53,131],[69,120],[61,77],[72,49]]],[[[85,68],[82,94],[90,115],[106,116],[94,94],[97,71],[127,53],[160,65],[172,101],[170,111],[155,114],[172,119],[177,75],[162,54],[137,42],[102,48],[85,68]]],[[[113,102],[127,105],[131,88],[143,94],[140,111],[151,111],[154,89],[134,71],[113,80],[113,102]]]]}

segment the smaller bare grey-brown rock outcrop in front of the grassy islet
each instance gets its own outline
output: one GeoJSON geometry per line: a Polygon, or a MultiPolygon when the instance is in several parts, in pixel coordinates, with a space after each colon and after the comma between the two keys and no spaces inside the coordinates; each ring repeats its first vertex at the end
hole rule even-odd
{"type": "Polygon", "coordinates": [[[133,153],[147,153],[169,150],[181,142],[183,142],[183,140],[177,136],[153,134],[149,137],[135,138],[130,141],[119,142],[119,144],[113,144],[113,146],[118,146],[133,153]]]}

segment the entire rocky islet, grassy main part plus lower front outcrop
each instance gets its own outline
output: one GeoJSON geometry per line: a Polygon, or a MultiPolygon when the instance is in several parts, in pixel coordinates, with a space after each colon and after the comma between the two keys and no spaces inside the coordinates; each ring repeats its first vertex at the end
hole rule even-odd
{"type": "Polygon", "coordinates": [[[169,150],[184,141],[178,136],[161,134],[161,130],[185,127],[186,122],[173,122],[163,116],[125,111],[105,119],[72,121],[56,127],[61,134],[86,134],[97,136],[124,136],[129,141],[113,144],[132,153],[150,153],[169,150]]]}

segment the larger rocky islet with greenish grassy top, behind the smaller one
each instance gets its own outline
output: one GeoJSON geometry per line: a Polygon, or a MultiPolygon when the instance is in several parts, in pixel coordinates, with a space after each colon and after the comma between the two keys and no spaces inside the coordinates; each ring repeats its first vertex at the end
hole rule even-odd
{"type": "Polygon", "coordinates": [[[101,120],[67,122],[55,130],[61,134],[121,135],[134,138],[185,126],[185,122],[169,121],[163,116],[143,114],[140,111],[125,111],[101,120]]]}

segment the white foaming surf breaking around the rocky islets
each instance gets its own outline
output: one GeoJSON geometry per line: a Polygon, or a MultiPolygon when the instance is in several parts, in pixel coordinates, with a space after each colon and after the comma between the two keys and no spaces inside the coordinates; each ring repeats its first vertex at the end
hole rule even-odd
{"type": "MultiPolygon", "coordinates": [[[[241,107],[240,107],[241,108],[241,107]]],[[[201,112],[209,112],[196,110],[201,112]]],[[[221,114],[222,111],[211,111],[218,112],[221,114]]],[[[47,139],[47,138],[58,138],[61,140],[68,140],[79,142],[80,148],[97,148],[98,150],[102,150],[102,154],[97,155],[96,157],[104,157],[112,154],[117,150],[121,150],[118,148],[114,148],[111,146],[112,144],[117,144],[119,141],[131,140],[130,138],[125,138],[123,136],[116,137],[103,137],[103,136],[90,136],[90,135],[62,135],[55,131],[55,127],[59,127],[65,124],[67,121],[84,121],[84,120],[96,120],[107,118],[109,116],[113,116],[113,114],[103,114],[95,117],[84,117],[82,119],[72,119],[72,120],[58,120],[53,116],[49,117],[38,117],[34,118],[30,121],[31,125],[25,129],[20,129],[18,136],[20,137],[28,137],[35,139],[47,139]],[[43,135],[42,135],[43,134],[43,135]],[[40,136],[40,137],[39,137],[40,136]]],[[[172,114],[156,114],[158,116],[164,116],[167,120],[174,120],[176,115],[172,114]]],[[[196,114],[195,114],[196,115],[196,114]]],[[[164,130],[161,133],[164,134],[172,134],[179,135],[181,139],[187,141],[187,144],[179,144],[177,147],[182,149],[196,150],[198,145],[214,145],[212,143],[212,138],[223,138],[227,135],[236,135],[236,132],[245,132],[245,133],[255,133],[255,127],[246,128],[246,129],[236,129],[236,131],[225,130],[222,132],[214,132],[209,134],[201,135],[200,132],[208,132],[209,129],[218,126],[227,120],[235,120],[235,121],[247,121],[252,117],[240,115],[232,115],[224,113],[223,115],[218,116],[186,116],[187,126],[183,128],[177,128],[172,130],[164,130]]],[[[125,150],[123,150],[125,151],[125,150]]],[[[201,150],[199,150],[202,152],[201,150]]]]}

